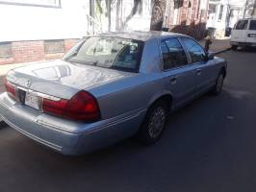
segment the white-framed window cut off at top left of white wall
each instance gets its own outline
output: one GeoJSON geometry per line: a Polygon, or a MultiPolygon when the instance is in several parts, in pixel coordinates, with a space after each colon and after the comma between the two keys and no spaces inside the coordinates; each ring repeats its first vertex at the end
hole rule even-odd
{"type": "Polygon", "coordinates": [[[0,4],[61,8],[61,0],[0,0],[0,4]]]}

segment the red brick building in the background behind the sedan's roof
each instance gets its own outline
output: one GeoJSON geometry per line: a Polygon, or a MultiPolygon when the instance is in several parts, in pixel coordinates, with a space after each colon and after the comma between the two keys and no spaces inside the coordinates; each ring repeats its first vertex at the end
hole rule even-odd
{"type": "Polygon", "coordinates": [[[205,35],[208,0],[168,0],[165,26],[169,31],[196,39],[205,35]]]}

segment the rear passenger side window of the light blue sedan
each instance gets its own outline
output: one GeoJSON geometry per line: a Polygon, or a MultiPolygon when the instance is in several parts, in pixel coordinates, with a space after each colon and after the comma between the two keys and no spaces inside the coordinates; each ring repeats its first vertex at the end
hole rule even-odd
{"type": "Polygon", "coordinates": [[[161,50],[164,69],[175,68],[188,64],[185,51],[177,38],[162,40],[161,50]]]}

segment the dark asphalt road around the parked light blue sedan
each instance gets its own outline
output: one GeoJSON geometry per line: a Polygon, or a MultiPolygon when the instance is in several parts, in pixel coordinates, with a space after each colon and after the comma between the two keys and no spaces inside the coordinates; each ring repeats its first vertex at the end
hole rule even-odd
{"type": "Polygon", "coordinates": [[[223,92],[170,116],[163,138],[61,156],[1,125],[0,191],[256,191],[256,52],[227,52],[223,92]]]}

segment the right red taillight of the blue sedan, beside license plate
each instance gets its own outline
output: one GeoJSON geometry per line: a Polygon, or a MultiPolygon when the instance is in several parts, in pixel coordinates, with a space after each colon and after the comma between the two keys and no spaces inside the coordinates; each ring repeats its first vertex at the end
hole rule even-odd
{"type": "Polygon", "coordinates": [[[97,101],[84,90],[76,93],[70,100],[43,99],[42,110],[46,113],[78,121],[96,121],[100,118],[97,101]]]}

